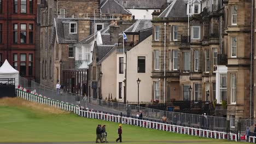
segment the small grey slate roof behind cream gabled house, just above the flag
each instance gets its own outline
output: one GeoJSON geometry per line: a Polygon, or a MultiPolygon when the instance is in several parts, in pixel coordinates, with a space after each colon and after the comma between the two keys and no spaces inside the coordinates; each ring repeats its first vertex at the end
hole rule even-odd
{"type": "Polygon", "coordinates": [[[138,33],[143,29],[152,27],[151,20],[137,20],[133,25],[125,30],[126,33],[138,33]]]}

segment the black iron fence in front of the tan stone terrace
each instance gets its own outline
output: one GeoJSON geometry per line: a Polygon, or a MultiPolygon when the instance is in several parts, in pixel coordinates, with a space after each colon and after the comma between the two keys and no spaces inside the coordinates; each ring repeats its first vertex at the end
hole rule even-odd
{"type": "Polygon", "coordinates": [[[203,113],[206,113],[207,115],[214,114],[213,103],[210,101],[201,100],[172,101],[168,103],[147,103],[139,104],[139,106],[162,111],[193,113],[196,115],[201,115],[203,113]]]}

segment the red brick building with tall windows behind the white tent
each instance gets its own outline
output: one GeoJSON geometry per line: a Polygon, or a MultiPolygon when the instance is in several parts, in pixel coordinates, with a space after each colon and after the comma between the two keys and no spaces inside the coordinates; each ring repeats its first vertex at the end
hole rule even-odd
{"type": "Polygon", "coordinates": [[[37,0],[0,0],[0,65],[5,59],[34,79],[37,0]]]}

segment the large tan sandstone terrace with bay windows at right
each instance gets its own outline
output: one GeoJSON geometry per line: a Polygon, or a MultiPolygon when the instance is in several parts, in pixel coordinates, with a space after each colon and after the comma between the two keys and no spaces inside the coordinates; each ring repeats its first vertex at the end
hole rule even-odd
{"type": "Polygon", "coordinates": [[[217,115],[231,127],[250,117],[250,8],[251,1],[172,1],[155,16],[152,98],[226,103],[217,115]]]}

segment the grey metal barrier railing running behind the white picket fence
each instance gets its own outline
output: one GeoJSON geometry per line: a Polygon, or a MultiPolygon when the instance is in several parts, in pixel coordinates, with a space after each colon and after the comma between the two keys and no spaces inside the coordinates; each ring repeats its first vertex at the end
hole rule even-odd
{"type": "MultiPolygon", "coordinates": [[[[71,104],[79,104],[80,106],[89,107],[90,109],[94,110],[113,113],[122,112],[124,115],[128,116],[136,116],[138,111],[142,111],[143,118],[155,119],[155,121],[161,120],[162,116],[165,115],[168,123],[176,123],[177,125],[183,125],[186,127],[225,131],[227,127],[226,121],[230,120],[230,118],[225,117],[193,115],[190,113],[162,111],[149,109],[147,107],[114,103],[68,92],[61,92],[61,94],[58,95],[56,89],[40,85],[39,83],[33,81],[32,86],[29,88],[31,91],[36,89],[36,93],[42,94],[48,98],[65,101],[71,104]]],[[[251,119],[232,119],[232,121],[234,121],[235,125],[231,125],[231,130],[237,129],[238,121],[241,122],[242,130],[245,130],[247,126],[251,126],[252,123],[256,123],[256,121],[251,119]]]]}

